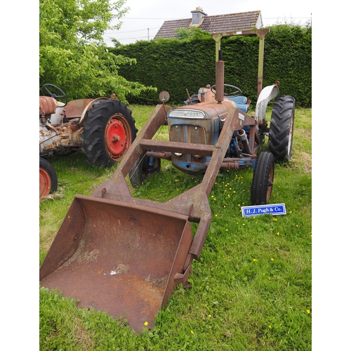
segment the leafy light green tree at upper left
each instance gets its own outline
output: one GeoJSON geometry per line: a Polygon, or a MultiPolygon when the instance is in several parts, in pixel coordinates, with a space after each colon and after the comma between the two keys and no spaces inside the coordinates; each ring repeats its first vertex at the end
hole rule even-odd
{"type": "Polygon", "coordinates": [[[135,59],[114,55],[106,48],[102,34],[119,29],[128,11],[126,0],[40,0],[39,84],[60,86],[69,99],[96,98],[116,93],[138,96],[155,90],[119,76],[119,65],[133,65],[135,59]]]}

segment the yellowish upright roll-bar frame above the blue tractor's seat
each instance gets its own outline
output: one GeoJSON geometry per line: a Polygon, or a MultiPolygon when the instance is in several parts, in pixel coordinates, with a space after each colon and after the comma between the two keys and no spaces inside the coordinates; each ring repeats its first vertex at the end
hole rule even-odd
{"type": "Polygon", "coordinates": [[[213,33],[212,38],[216,41],[216,62],[219,58],[220,39],[223,37],[232,37],[237,35],[257,35],[260,38],[260,46],[258,48],[258,82],[257,82],[257,96],[260,95],[263,87],[263,53],[265,50],[265,36],[270,32],[269,28],[265,29],[244,29],[235,32],[213,33]]]}

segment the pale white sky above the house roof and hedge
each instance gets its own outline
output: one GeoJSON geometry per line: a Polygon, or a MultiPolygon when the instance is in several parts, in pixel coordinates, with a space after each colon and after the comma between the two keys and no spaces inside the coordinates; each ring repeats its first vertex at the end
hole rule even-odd
{"type": "Polygon", "coordinates": [[[105,43],[109,46],[114,46],[111,37],[121,44],[154,39],[164,21],[192,18],[190,11],[197,7],[201,7],[207,15],[261,11],[264,26],[284,20],[291,22],[291,19],[303,25],[312,18],[311,0],[234,0],[219,3],[213,0],[127,0],[125,7],[129,7],[130,11],[121,19],[121,28],[105,34],[105,43]]]}

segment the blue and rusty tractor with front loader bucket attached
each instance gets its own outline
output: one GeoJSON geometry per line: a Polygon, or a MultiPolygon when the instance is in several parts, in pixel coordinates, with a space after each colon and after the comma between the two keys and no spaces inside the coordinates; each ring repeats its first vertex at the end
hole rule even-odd
{"type": "MultiPolygon", "coordinates": [[[[169,94],[160,93],[162,103],[112,177],[91,196],[74,197],[41,265],[41,286],[79,299],[78,307],[123,316],[135,331],[145,322],[152,328],[176,286],[189,286],[192,260],[199,258],[211,223],[208,196],[218,171],[253,167],[251,201],[267,204],[274,156],[260,152],[267,128],[260,131],[259,119],[277,96],[277,85],[263,89],[255,116],[237,107],[224,87],[224,62],[218,60],[216,89],[201,88],[199,102],[172,108],[166,105],[169,94]],[[153,140],[164,125],[169,141],[153,140]],[[204,173],[202,182],[165,203],[134,198],[128,176],[133,186],[140,185],[159,170],[162,158],[185,173],[204,173]],[[191,223],[197,223],[194,233],[191,223]]],[[[293,121],[291,99],[284,107],[293,121]]]]}

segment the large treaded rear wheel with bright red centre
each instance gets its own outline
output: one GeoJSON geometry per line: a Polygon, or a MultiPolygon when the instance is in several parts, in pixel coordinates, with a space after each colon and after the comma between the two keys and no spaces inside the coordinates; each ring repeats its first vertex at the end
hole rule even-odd
{"type": "Polygon", "coordinates": [[[82,124],[81,149],[92,166],[111,167],[120,161],[138,132],[131,110],[119,100],[94,104],[82,124]]]}

